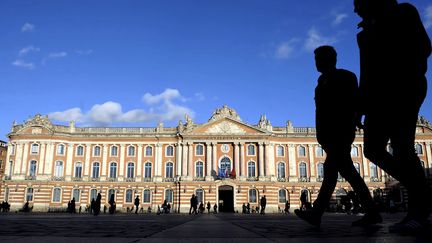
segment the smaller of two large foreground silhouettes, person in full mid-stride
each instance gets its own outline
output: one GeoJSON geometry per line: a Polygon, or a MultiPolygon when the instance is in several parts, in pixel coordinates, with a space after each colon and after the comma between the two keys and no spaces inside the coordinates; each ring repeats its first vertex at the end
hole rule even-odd
{"type": "Polygon", "coordinates": [[[308,223],[319,226],[336,187],[338,172],[360,195],[366,214],[353,226],[367,226],[382,222],[375,209],[365,182],[351,159],[351,144],[355,138],[358,113],[358,87],[354,73],[336,68],[337,53],[331,46],[315,50],[315,64],[321,76],[315,89],[316,136],[327,154],[324,162],[324,180],[312,209],[294,212],[308,223]]]}

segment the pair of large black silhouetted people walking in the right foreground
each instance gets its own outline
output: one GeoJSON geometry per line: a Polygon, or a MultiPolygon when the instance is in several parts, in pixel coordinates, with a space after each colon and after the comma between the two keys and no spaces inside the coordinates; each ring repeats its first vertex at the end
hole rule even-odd
{"type": "Polygon", "coordinates": [[[360,84],[354,73],[336,68],[331,46],[314,52],[321,76],[315,89],[317,140],[327,157],[324,180],[313,207],[295,210],[319,226],[335,189],[338,172],[359,196],[365,215],[352,223],[382,222],[368,187],[351,159],[356,127],[364,130],[364,155],[408,191],[408,214],[391,232],[416,233],[428,228],[432,189],[414,150],[416,122],[426,97],[431,42],[417,9],[396,0],[354,0],[362,21],[357,35],[360,84]],[[364,119],[364,122],[363,122],[364,119]],[[393,153],[387,151],[390,142],[393,153]]]}

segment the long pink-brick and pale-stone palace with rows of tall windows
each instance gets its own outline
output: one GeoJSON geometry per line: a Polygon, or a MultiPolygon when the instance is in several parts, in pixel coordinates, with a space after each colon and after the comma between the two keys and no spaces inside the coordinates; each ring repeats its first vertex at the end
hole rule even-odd
{"type": "MultiPolygon", "coordinates": [[[[265,195],[267,211],[277,212],[286,201],[299,207],[302,192],[316,198],[326,156],[314,128],[290,121],[273,127],[265,116],[247,124],[227,106],[207,123],[186,116],[177,127],[62,126],[36,115],[14,123],[8,137],[0,201],[12,209],[28,201],[37,211],[64,208],[72,198],[85,207],[101,193],[106,205],[114,194],[118,210],[133,207],[139,196],[144,209],[167,200],[175,212],[188,211],[192,194],[227,212],[241,212],[248,202],[254,207],[265,195]]],[[[351,155],[371,193],[396,185],[364,157],[362,141],[359,132],[351,155]]],[[[431,144],[432,126],[421,118],[415,149],[428,176],[431,144]]],[[[349,190],[340,178],[334,196],[349,190]]]]}

